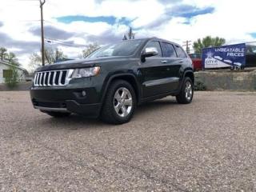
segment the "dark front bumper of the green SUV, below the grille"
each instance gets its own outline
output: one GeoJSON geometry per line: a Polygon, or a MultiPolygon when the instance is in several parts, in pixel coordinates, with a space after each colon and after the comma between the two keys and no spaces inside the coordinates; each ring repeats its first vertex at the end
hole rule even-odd
{"type": "Polygon", "coordinates": [[[70,112],[94,118],[99,116],[101,110],[98,95],[94,88],[47,90],[32,87],[30,89],[30,97],[35,109],[42,112],[70,112]],[[85,91],[86,95],[82,95],[82,91],[85,91]]]}

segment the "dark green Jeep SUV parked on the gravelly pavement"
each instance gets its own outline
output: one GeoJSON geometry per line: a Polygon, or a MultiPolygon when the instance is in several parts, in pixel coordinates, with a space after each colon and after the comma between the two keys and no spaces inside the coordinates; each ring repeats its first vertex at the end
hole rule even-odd
{"type": "Polygon", "coordinates": [[[34,108],[50,116],[74,113],[114,124],[129,122],[143,102],[172,95],[188,104],[193,94],[190,57],[158,38],[117,42],[83,60],[42,66],[30,90],[34,108]]]}

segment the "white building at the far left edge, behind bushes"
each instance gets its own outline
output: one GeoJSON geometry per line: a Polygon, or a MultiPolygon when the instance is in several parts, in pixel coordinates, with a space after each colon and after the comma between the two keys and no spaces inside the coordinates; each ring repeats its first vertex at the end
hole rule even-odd
{"type": "Polygon", "coordinates": [[[13,66],[4,60],[0,60],[0,83],[5,83],[5,78],[6,78],[6,76],[12,74],[12,69],[17,70],[19,82],[26,81],[26,70],[25,69],[23,69],[19,66],[13,66]]]}

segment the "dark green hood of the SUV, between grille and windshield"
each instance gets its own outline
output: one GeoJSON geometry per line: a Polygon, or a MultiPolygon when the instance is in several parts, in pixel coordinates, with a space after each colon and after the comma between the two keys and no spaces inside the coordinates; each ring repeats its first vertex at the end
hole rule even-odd
{"type": "Polygon", "coordinates": [[[107,57],[107,58],[85,58],[70,60],[66,62],[56,62],[51,65],[41,66],[35,72],[44,70],[64,70],[64,69],[74,69],[74,68],[86,68],[91,66],[102,66],[106,62],[117,62],[117,61],[127,61],[129,57],[107,57]]]}

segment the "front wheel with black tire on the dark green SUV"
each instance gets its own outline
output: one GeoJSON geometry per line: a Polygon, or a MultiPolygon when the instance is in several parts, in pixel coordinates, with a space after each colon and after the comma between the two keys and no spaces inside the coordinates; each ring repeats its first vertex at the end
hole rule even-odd
{"type": "Polygon", "coordinates": [[[102,106],[104,122],[122,124],[129,122],[137,106],[134,88],[129,82],[118,80],[110,85],[102,106]]]}

